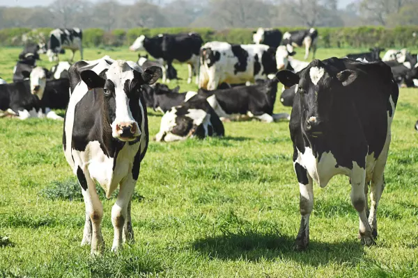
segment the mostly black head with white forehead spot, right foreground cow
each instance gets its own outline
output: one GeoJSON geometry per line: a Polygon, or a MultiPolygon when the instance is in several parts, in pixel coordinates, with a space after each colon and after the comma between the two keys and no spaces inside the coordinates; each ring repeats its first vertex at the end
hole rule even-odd
{"type": "Polygon", "coordinates": [[[357,72],[329,72],[320,60],[314,60],[296,74],[288,70],[277,72],[277,79],[286,87],[297,84],[295,90],[299,95],[296,99],[300,100],[302,129],[307,135],[318,137],[330,120],[335,95],[341,95],[345,87],[357,79],[357,72]]]}

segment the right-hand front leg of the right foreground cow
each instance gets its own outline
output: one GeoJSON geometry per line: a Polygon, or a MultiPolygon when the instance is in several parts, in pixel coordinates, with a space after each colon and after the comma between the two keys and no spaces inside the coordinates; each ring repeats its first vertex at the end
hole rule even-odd
{"type": "Polygon", "coordinates": [[[364,186],[366,181],[366,170],[353,163],[351,171],[351,203],[359,215],[359,234],[362,245],[373,245],[374,240],[371,236],[371,227],[366,216],[366,196],[364,186]]]}

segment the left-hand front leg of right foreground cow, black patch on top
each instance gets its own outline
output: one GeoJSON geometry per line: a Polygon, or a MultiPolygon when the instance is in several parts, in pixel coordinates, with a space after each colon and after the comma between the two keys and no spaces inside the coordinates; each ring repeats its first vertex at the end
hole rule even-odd
{"type": "Polygon", "coordinates": [[[296,250],[306,250],[309,245],[309,217],[314,208],[314,188],[312,178],[299,163],[294,163],[297,181],[299,182],[300,228],[296,237],[296,250]]]}

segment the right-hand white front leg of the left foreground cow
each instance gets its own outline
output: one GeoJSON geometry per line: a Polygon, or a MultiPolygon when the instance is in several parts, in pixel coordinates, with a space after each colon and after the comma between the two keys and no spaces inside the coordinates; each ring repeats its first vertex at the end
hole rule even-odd
{"type": "Polygon", "coordinates": [[[137,181],[132,178],[132,174],[121,181],[116,203],[111,208],[111,223],[114,226],[114,242],[111,245],[111,250],[114,252],[121,248],[123,242],[123,227],[127,221],[127,206],[132,198],[132,193],[134,193],[135,183],[137,181]]]}

